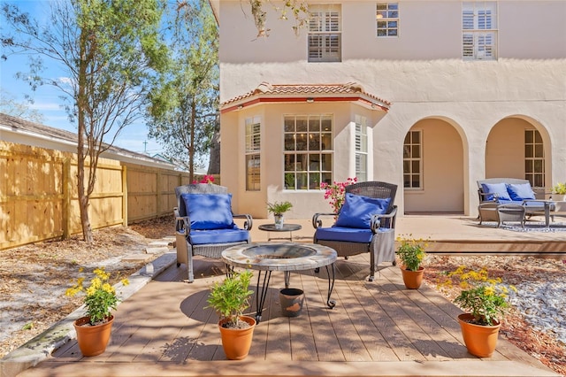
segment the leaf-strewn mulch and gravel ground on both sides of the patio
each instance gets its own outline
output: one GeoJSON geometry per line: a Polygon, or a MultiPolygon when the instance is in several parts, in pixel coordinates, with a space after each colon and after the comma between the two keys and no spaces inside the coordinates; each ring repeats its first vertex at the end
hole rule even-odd
{"type": "MultiPolygon", "coordinates": [[[[149,242],[168,235],[172,235],[172,220],[164,218],[98,230],[92,246],[76,236],[64,242],[0,251],[0,358],[80,306],[80,297],[65,296],[80,266],[92,271],[106,265],[112,281],[119,281],[156,258],[146,254],[149,242]],[[124,262],[132,255],[147,258],[124,262]]],[[[491,276],[500,276],[519,289],[518,296],[512,298],[514,306],[501,324],[501,336],[566,375],[566,265],[560,260],[531,257],[429,255],[424,264],[425,283],[436,289],[439,276],[458,265],[485,266],[491,276]]],[[[442,293],[452,300],[459,292],[455,288],[442,293]]]]}

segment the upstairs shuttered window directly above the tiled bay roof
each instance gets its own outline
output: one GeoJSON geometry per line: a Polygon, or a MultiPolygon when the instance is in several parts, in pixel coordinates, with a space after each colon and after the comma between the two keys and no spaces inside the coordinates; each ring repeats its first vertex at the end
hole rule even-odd
{"type": "Polygon", "coordinates": [[[340,5],[312,5],[309,12],[309,61],[340,62],[340,5]]]}

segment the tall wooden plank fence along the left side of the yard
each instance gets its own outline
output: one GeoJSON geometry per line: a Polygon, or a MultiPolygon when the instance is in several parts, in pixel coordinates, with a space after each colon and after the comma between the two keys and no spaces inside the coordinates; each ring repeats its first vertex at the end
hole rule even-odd
{"type": "MultiPolygon", "coordinates": [[[[0,141],[0,250],[81,232],[77,157],[0,141]]],[[[172,216],[188,173],[101,158],[88,208],[94,229],[172,216]]]]}

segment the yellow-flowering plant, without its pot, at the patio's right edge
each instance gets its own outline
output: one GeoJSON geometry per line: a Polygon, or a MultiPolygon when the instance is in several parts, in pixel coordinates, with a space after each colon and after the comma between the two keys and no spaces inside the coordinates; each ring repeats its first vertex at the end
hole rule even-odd
{"type": "Polygon", "coordinates": [[[475,271],[460,265],[447,273],[447,278],[440,284],[440,289],[451,288],[455,281],[458,282],[462,291],[454,302],[469,311],[474,317],[473,323],[480,326],[499,323],[508,310],[509,289],[516,292],[514,286],[503,284],[501,278],[490,278],[485,268],[475,271]]]}

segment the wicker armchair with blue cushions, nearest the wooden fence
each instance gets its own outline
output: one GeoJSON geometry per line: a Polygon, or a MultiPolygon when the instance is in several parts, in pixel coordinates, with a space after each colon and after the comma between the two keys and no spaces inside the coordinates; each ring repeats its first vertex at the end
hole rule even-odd
{"type": "Polygon", "coordinates": [[[221,258],[222,251],[241,243],[249,243],[252,218],[234,215],[228,189],[208,183],[195,183],[175,188],[177,207],[175,236],[177,266],[187,265],[187,281],[195,281],[193,256],[221,258]],[[233,218],[246,219],[241,229],[233,218]]]}

